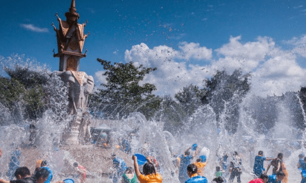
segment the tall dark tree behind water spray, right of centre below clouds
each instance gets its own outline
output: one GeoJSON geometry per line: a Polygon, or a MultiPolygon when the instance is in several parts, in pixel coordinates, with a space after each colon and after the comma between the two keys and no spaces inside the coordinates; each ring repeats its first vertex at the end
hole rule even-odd
{"type": "Polygon", "coordinates": [[[217,71],[212,78],[204,80],[206,95],[201,96],[202,103],[213,107],[218,123],[223,123],[231,133],[237,130],[239,104],[250,89],[250,77],[250,73],[243,74],[241,70],[231,75],[217,71]]]}

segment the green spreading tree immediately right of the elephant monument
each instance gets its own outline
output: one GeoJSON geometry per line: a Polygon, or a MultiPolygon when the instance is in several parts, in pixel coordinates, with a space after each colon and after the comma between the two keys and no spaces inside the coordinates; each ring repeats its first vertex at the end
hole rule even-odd
{"type": "Polygon", "coordinates": [[[145,68],[130,63],[114,63],[97,59],[103,66],[106,83],[103,88],[91,95],[89,107],[94,112],[103,112],[110,119],[120,119],[131,112],[141,112],[147,118],[154,116],[159,109],[161,99],[152,94],[154,84],[140,82],[144,76],[156,68],[145,68]]]}

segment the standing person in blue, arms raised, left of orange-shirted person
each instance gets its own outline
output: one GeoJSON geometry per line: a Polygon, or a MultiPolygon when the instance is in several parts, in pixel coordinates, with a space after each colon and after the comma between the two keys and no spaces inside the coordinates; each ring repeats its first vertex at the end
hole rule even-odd
{"type": "Polygon", "coordinates": [[[180,156],[181,163],[179,169],[179,180],[181,183],[184,183],[189,178],[186,168],[191,163],[191,160],[197,155],[198,152],[198,147],[196,147],[194,155],[190,155],[189,149],[191,149],[191,147],[185,150],[184,155],[180,156]]]}

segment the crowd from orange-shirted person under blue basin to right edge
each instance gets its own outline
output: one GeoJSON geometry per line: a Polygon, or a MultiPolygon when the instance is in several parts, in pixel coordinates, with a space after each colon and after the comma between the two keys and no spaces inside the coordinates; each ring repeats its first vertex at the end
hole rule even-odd
{"type": "MultiPolygon", "coordinates": [[[[199,158],[192,163],[192,160],[198,154],[198,147],[196,147],[194,154],[190,154],[189,147],[185,150],[184,154],[179,159],[179,181],[180,183],[207,183],[208,180],[204,174],[204,167],[207,165],[207,157],[205,155],[199,156],[199,158]]],[[[288,172],[283,161],[284,155],[279,153],[276,158],[264,157],[263,151],[259,151],[258,155],[254,159],[253,177],[249,183],[287,183],[288,172]],[[264,161],[270,161],[266,169],[264,168],[264,161]],[[272,174],[268,175],[268,170],[272,166],[272,174]]],[[[151,159],[147,159],[147,163],[143,166],[143,172],[140,172],[137,163],[137,157],[133,156],[134,170],[132,167],[125,167],[126,171],[121,171],[119,177],[122,178],[122,183],[137,182],[137,179],[141,183],[145,182],[162,182],[161,175],[156,171],[154,163],[151,159]]],[[[212,183],[228,182],[232,183],[234,179],[237,182],[241,182],[242,174],[242,160],[237,151],[234,151],[233,157],[228,158],[226,152],[220,158],[220,166],[216,166],[215,178],[212,179],[212,183]]],[[[301,172],[301,183],[306,183],[306,157],[299,155],[299,162],[297,165],[301,172]]],[[[121,166],[122,168],[122,166],[121,166]]],[[[124,168],[123,168],[124,169],[124,168]]]]}

